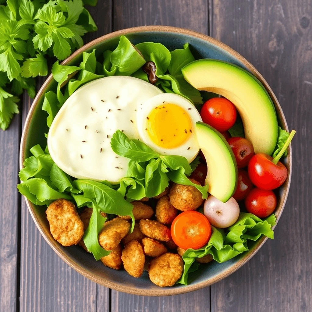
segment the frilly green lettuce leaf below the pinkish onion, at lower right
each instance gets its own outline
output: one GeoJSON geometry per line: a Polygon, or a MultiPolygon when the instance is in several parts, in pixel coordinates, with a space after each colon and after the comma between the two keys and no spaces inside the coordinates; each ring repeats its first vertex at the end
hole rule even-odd
{"type": "MultiPolygon", "coordinates": [[[[272,227],[275,225],[274,214],[261,220],[251,213],[241,212],[235,224],[227,229],[212,227],[212,235],[207,245],[193,250],[189,248],[183,255],[184,271],[177,284],[188,284],[188,273],[196,258],[202,258],[208,254],[219,263],[228,261],[244,251],[248,251],[248,241],[256,241],[261,235],[271,239],[274,237],[272,227]]],[[[197,266],[198,269],[199,266],[197,266]]],[[[194,267],[193,267],[193,271],[194,267]]]]}

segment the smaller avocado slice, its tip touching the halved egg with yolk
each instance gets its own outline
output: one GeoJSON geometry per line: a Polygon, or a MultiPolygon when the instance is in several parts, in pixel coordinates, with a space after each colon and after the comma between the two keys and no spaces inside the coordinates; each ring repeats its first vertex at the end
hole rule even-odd
{"type": "Polygon", "coordinates": [[[207,162],[205,184],[208,192],[227,202],[236,190],[238,170],[235,156],[223,135],[209,124],[198,121],[196,135],[207,162]]]}

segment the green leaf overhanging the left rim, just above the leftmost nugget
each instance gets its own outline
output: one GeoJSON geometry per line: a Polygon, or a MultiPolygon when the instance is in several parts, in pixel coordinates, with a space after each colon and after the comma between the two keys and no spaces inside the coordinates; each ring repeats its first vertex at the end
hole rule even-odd
{"type": "Polygon", "coordinates": [[[57,192],[42,178],[32,178],[17,185],[19,192],[35,205],[49,205],[56,199],[72,199],[71,196],[57,192]]]}

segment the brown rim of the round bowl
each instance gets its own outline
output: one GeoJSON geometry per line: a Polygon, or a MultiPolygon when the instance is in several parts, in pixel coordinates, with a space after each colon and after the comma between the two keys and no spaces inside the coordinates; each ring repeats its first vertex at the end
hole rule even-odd
{"type": "MultiPolygon", "coordinates": [[[[122,30],[118,30],[115,32],[110,32],[104,36],[98,37],[93,41],[90,41],[89,43],[85,44],[82,46],[80,49],[76,50],[73,54],[71,54],[66,60],[64,60],[61,64],[65,65],[72,61],[76,56],[80,55],[83,51],[88,50],[92,48],[93,46],[100,44],[103,41],[106,41],[108,39],[112,39],[115,37],[119,37],[121,35],[127,35],[135,32],[168,32],[168,33],[179,33],[179,34],[184,34],[188,35],[191,37],[195,37],[197,39],[201,39],[203,41],[207,41],[209,43],[214,44],[215,46],[225,50],[232,56],[236,57],[246,68],[251,71],[251,73],[256,76],[261,83],[264,85],[266,88],[268,94],[270,95],[271,99],[273,100],[275,109],[277,110],[277,115],[280,117],[280,122],[283,125],[283,128],[288,130],[287,122],[285,119],[285,115],[281,109],[281,106],[271,90],[270,86],[266,82],[266,80],[262,77],[262,75],[256,70],[254,66],[252,66],[249,61],[247,61],[243,56],[241,56],[238,52],[227,46],[226,44],[222,43],[221,41],[218,41],[217,39],[214,39],[210,36],[204,35],[200,32],[195,32],[193,30],[188,30],[185,28],[179,28],[179,27],[172,27],[172,26],[139,26],[139,27],[131,27],[131,28],[126,28],[122,30]]],[[[33,100],[32,106],[27,114],[27,118],[25,121],[24,129],[22,132],[22,137],[21,137],[21,145],[20,145],[20,155],[19,155],[19,165],[20,168],[22,168],[22,164],[25,160],[25,155],[26,155],[26,143],[27,143],[27,137],[28,137],[28,132],[29,132],[29,127],[30,127],[30,121],[32,119],[32,115],[35,111],[35,108],[38,104],[39,99],[41,96],[45,93],[46,87],[51,83],[53,80],[52,74],[48,76],[46,81],[43,83],[41,86],[40,90],[38,91],[35,99],[33,100]]],[[[287,161],[289,164],[289,170],[288,170],[288,176],[285,181],[285,188],[283,191],[283,194],[280,198],[279,205],[275,211],[276,214],[276,223],[280,219],[280,216],[283,212],[283,209],[285,207],[285,202],[289,193],[289,188],[290,188],[290,180],[291,180],[291,173],[292,173],[292,150],[291,150],[291,144],[289,145],[288,149],[288,156],[287,156],[287,161]]],[[[243,266],[247,261],[249,261],[255,254],[256,252],[261,248],[261,246],[266,242],[268,239],[267,237],[263,236],[260,240],[256,242],[256,244],[250,249],[250,253],[248,255],[243,256],[241,259],[239,259],[236,263],[234,263],[230,268],[226,269],[225,271],[219,273],[217,276],[214,276],[212,278],[209,278],[207,280],[204,280],[200,283],[197,283],[195,285],[184,285],[183,287],[164,287],[157,290],[149,290],[149,289],[137,289],[134,286],[125,286],[122,284],[119,284],[117,282],[110,282],[107,281],[99,276],[96,276],[92,273],[90,273],[88,270],[82,268],[78,263],[76,263],[70,256],[68,256],[64,251],[62,251],[61,246],[55,241],[51,240],[48,235],[47,231],[44,228],[43,222],[40,220],[40,218],[37,216],[34,205],[32,202],[30,202],[26,197],[25,197],[26,203],[28,210],[32,216],[32,219],[34,220],[38,230],[40,231],[41,235],[43,238],[47,241],[47,243],[51,246],[51,248],[56,252],[58,256],[61,257],[63,261],[65,261],[69,266],[71,266],[73,269],[75,269],[78,273],[81,275],[87,277],[88,279],[103,285],[105,287],[109,287],[111,289],[117,290],[117,291],[122,291],[125,293],[129,294],[134,294],[134,295],[146,295],[146,296],[167,296],[167,295],[178,295],[178,294],[183,294],[187,293],[190,291],[195,291],[199,290],[201,288],[210,286],[227,276],[231,275],[234,273],[236,270],[238,270],[241,266],[243,266]]]]}

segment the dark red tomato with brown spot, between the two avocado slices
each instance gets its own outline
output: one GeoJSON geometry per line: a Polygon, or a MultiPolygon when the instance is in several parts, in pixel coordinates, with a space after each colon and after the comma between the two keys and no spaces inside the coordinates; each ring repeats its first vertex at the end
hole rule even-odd
{"type": "Polygon", "coordinates": [[[227,143],[232,148],[238,169],[246,167],[250,158],[255,155],[252,144],[247,139],[240,137],[230,138],[227,143]]]}

